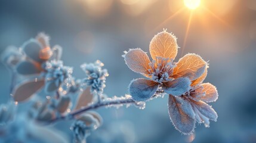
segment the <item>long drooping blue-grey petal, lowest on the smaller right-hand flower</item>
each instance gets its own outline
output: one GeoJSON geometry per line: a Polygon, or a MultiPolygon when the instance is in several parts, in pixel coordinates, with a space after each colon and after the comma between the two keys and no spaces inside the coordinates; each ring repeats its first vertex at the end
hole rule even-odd
{"type": "Polygon", "coordinates": [[[169,95],[169,117],[171,118],[171,122],[175,128],[181,133],[187,135],[193,132],[196,120],[184,112],[180,102],[177,101],[178,98],[180,97],[173,97],[172,95],[169,95]]]}

